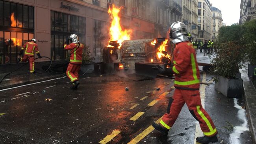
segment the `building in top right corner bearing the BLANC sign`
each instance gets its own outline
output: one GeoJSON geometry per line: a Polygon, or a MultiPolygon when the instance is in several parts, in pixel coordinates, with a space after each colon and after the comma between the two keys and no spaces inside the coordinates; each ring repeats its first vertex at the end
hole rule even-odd
{"type": "Polygon", "coordinates": [[[256,19],[256,0],[241,0],[240,9],[240,24],[256,19]]]}

